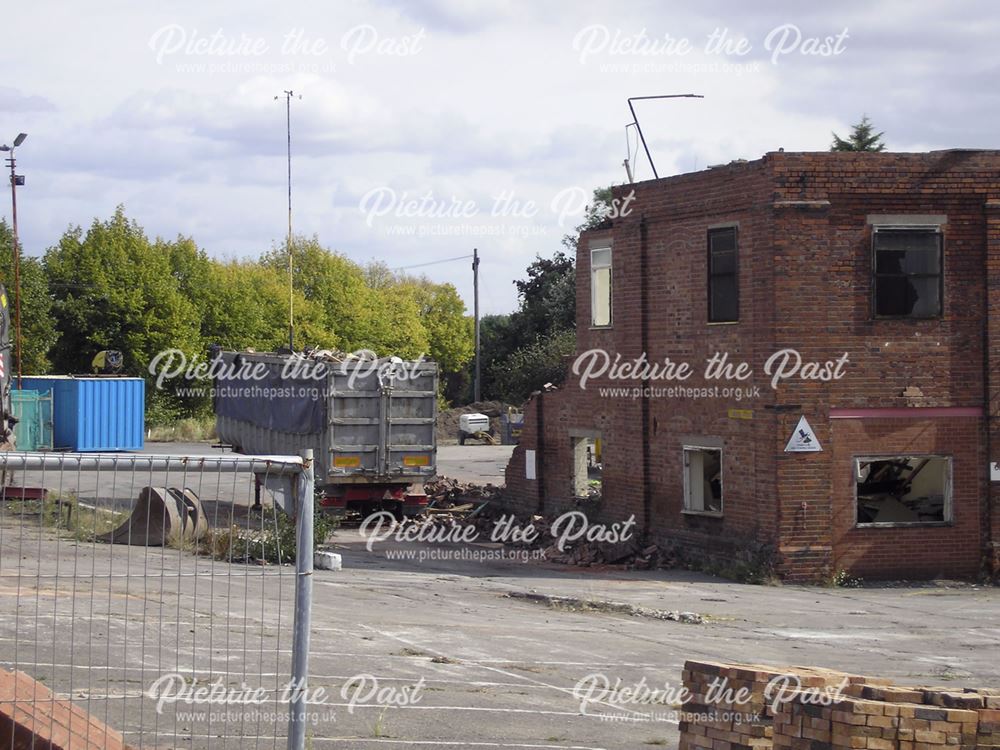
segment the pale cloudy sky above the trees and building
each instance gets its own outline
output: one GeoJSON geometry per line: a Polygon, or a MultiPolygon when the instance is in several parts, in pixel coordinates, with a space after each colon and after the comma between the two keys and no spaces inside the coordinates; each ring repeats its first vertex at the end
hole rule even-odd
{"type": "MultiPolygon", "coordinates": [[[[35,0],[4,14],[0,141],[18,132],[26,252],[115,206],[150,235],[253,256],[294,224],[367,262],[478,247],[483,305],[579,223],[585,198],[651,177],[824,150],[868,113],[893,150],[998,145],[1000,12],[983,0],[628,3],[35,0]],[[822,5],[822,7],[820,7],[822,5]]],[[[9,205],[3,216],[9,220],[9,205]]],[[[468,261],[426,265],[471,308],[468,261]]]]}

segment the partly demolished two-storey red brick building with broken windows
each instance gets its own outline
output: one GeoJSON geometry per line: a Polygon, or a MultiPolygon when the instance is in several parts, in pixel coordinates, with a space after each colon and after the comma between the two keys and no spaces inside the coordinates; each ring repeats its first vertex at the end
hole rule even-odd
{"type": "Polygon", "coordinates": [[[579,242],[578,372],[526,405],[511,502],[791,579],[995,565],[1000,151],[770,153],[615,194],[579,242]],[[660,372],[601,374],[643,353],[660,372]]]}

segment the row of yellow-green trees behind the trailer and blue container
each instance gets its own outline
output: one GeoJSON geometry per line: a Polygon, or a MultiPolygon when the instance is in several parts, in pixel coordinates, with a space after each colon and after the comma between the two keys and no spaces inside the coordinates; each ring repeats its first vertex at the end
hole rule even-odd
{"type": "MultiPolygon", "coordinates": [[[[10,232],[0,223],[0,248],[10,232]]],[[[7,278],[11,254],[0,258],[7,278]]],[[[369,268],[324,248],[292,244],[295,345],[436,360],[464,376],[472,321],[450,284],[369,268]]],[[[207,383],[184,378],[154,387],[150,361],[177,349],[189,362],[208,347],[272,351],[288,343],[288,254],[259,260],[209,257],[190,237],[150,240],[119,207],[84,231],[71,227],[41,261],[22,263],[25,371],[82,373],[102,349],[124,354],[125,373],[147,378],[147,422],[169,425],[210,413],[207,383]],[[47,357],[51,356],[49,363],[47,357]]],[[[12,285],[11,285],[12,286],[12,285]]]]}

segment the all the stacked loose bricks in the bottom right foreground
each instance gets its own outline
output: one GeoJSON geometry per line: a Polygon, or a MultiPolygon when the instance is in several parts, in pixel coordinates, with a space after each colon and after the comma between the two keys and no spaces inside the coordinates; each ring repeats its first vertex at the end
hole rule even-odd
{"type": "Polygon", "coordinates": [[[1000,690],[696,661],[684,686],[681,750],[1000,750],[1000,690]]]}

